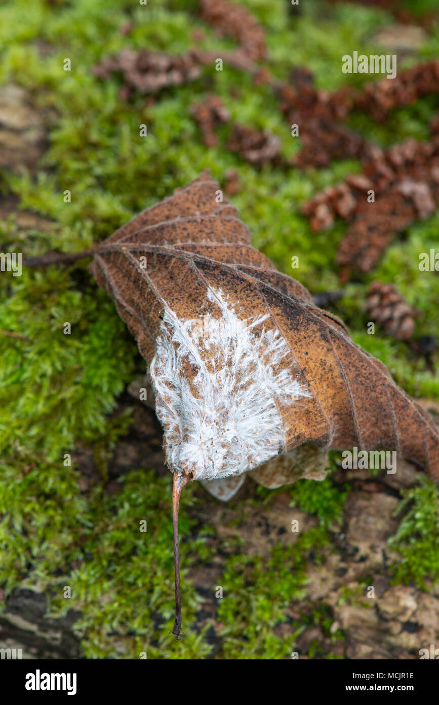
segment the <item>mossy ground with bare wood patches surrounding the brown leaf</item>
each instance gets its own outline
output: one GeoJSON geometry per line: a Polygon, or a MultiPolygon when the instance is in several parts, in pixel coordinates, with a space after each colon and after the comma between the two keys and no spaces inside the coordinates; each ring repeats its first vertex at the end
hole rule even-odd
{"type": "MultiPolygon", "coordinates": [[[[209,167],[253,245],[313,295],[341,291],[327,307],[439,421],[439,277],[419,270],[419,253],[438,247],[438,204],[400,228],[371,269],[343,274],[336,258],[348,223],[337,216],[312,228],[303,204],[360,173],[362,158],[331,153],[327,164],[298,164],[306,140],[291,136],[267,76],[252,73],[264,67],[289,85],[302,67],[298,85],[310,85],[307,69],[317,91],[362,90],[368,77],[343,74],[341,54],[385,47],[401,72],[428,63],[439,55],[434,4],[240,5],[255,17],[250,39],[227,23],[219,32],[195,0],[2,4],[0,250],[85,249],[209,167]],[[211,62],[157,93],[141,94],[120,71],[108,79],[94,71],[127,47],[173,55],[214,48],[225,57],[262,36],[267,52],[249,50],[251,71],[226,59],[215,71],[211,62]],[[208,94],[229,114],[210,144],[193,114],[208,94]],[[144,123],[147,137],[139,136],[144,123]],[[279,150],[250,163],[242,145],[231,149],[232,123],[267,130],[279,150]],[[374,280],[395,284],[421,312],[409,339],[378,324],[367,333],[374,280]]],[[[357,109],[343,124],[381,149],[428,142],[439,90],[424,93],[410,104],[396,99],[382,121],[357,109]]],[[[269,491],[247,478],[228,503],[201,485],[184,489],[184,637],[175,641],[171,476],[160,423],[136,397],[144,373],[87,262],[1,272],[1,647],[22,648],[23,658],[410,659],[438,644],[435,484],[399,459],[395,474],[343,470],[336,452],[322,482],[269,491]]]]}

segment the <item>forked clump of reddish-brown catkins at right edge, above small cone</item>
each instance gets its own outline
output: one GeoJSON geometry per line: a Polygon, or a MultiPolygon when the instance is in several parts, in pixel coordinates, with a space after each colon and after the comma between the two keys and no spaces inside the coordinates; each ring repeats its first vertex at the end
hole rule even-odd
{"type": "MultiPolygon", "coordinates": [[[[439,130],[439,118],[435,121],[439,130]]],[[[439,204],[439,134],[429,142],[406,140],[386,150],[374,149],[360,174],[329,186],[305,202],[302,212],[312,231],[331,228],[336,216],[350,222],[338,245],[337,264],[370,271],[393,236],[411,223],[431,216],[439,204]],[[373,190],[375,201],[367,200],[373,190]]]]}

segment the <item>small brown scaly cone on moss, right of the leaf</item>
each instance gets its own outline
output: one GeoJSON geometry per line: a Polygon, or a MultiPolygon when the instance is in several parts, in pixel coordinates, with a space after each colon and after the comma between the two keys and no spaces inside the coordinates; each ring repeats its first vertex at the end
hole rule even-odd
{"type": "Polygon", "coordinates": [[[367,290],[364,309],[388,336],[400,341],[412,338],[414,318],[421,312],[407,304],[393,284],[373,281],[367,290]]]}

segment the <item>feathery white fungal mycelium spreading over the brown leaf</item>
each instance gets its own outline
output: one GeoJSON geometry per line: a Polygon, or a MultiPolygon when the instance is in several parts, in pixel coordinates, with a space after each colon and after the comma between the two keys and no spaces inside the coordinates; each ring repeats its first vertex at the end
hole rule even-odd
{"type": "Polygon", "coordinates": [[[286,366],[284,338],[265,329],[268,314],[243,321],[222,290],[208,290],[208,299],[219,317],[165,312],[150,367],[167,463],[206,480],[241,474],[284,450],[275,399],[310,396],[286,366]]]}

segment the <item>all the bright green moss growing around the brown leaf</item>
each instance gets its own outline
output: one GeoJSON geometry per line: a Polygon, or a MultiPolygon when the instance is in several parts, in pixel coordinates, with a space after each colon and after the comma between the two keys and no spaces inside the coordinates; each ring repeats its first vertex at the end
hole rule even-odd
{"type": "MultiPolygon", "coordinates": [[[[245,4],[267,28],[274,75],[287,79],[291,66],[307,65],[317,85],[327,89],[367,80],[341,73],[341,54],[371,53],[376,30],[393,21],[376,8],[346,3],[304,3],[299,15],[281,0],[245,4]]],[[[49,147],[37,172],[3,170],[1,189],[17,194],[21,209],[53,221],[49,233],[34,229],[23,237],[11,218],[1,224],[1,247],[30,255],[82,250],[203,168],[220,180],[227,168],[234,168],[241,190],[233,201],[251,228],[254,245],[312,292],[339,288],[334,262],[345,223],[312,233],[300,206],[326,185],[358,171],[357,161],[304,173],[294,168],[256,170],[227,151],[227,126],[219,130],[217,147],[206,149],[188,108],[207,92],[222,97],[234,120],[278,135],[286,159],[300,149],[272,92],[227,66],[222,72],[207,67],[199,80],[163,91],[148,106],[140,96],[129,103],[119,99],[120,77],[103,82],[91,73],[94,63],[123,47],[184,52],[193,46],[194,29],[204,32],[198,45],[216,47],[218,56],[235,46],[201,22],[193,0],[155,0],[148,6],[128,0],[77,0],[54,7],[44,0],[1,4],[0,85],[22,85],[36,108],[50,116],[49,147]],[[119,31],[127,20],[134,22],[128,37],[119,31]],[[63,71],[66,57],[72,61],[70,72],[63,71]],[[146,138],[139,136],[141,123],[148,125],[146,138]],[[66,189],[72,193],[70,204],[63,202],[66,189]],[[293,255],[299,257],[294,270],[293,255]]],[[[432,26],[419,56],[437,56],[438,50],[439,29],[432,26]]],[[[385,125],[377,127],[356,115],[352,126],[381,145],[409,136],[426,139],[435,107],[433,99],[423,99],[394,111],[385,125]]],[[[334,309],[350,325],[355,341],[380,357],[398,384],[414,396],[436,399],[437,373],[378,329],[367,335],[362,300],[372,278],[395,281],[424,313],[417,332],[437,332],[438,278],[419,272],[418,256],[435,246],[438,217],[408,228],[405,238],[395,238],[377,269],[347,286],[334,309]]],[[[213,558],[207,540],[213,529],[207,522],[198,525],[195,518],[198,500],[190,488],[185,490],[180,534],[187,626],[184,639],[174,642],[167,633],[174,609],[169,478],[133,468],[120,478],[119,493],[108,496],[103,491],[113,447],[130,424],[129,411],[110,414],[144,362],[86,264],[0,277],[0,329],[28,338],[0,336],[1,580],[8,594],[26,580],[39,584],[50,598],[52,613],[81,611],[77,630],[89,658],[139,658],[145,650],[148,658],[205,658],[212,653],[209,625],[195,627],[201,597],[186,578],[191,565],[213,558]],[[70,336],[63,333],[65,321],[72,325],[70,336]],[[63,464],[64,455],[78,445],[92,446],[101,474],[101,482],[87,495],[79,491],[75,464],[63,464]],[[139,532],[143,518],[148,521],[146,534],[139,532]],[[70,600],[62,597],[66,584],[72,587],[70,600]]],[[[438,369],[437,353],[432,362],[438,369]]],[[[403,558],[395,580],[415,580],[412,573],[416,580],[426,580],[437,572],[437,498],[432,487],[420,484],[402,506],[408,513],[393,541],[403,558]]],[[[288,658],[304,627],[318,623],[327,635],[331,615],[326,607],[299,623],[291,618],[291,605],[305,594],[310,549],[317,547],[319,560],[329,530],[341,517],[345,494],[330,478],[293,486],[293,504],[314,514],[320,525],[294,546],[248,556],[239,541],[223,543],[224,552],[236,555],[224,558],[227,595],[218,604],[218,658],[288,658]],[[285,625],[288,637],[282,636],[285,625]]],[[[257,501],[269,502],[270,496],[258,491],[257,501]]],[[[238,503],[237,512],[244,515],[252,503],[238,503]]],[[[324,656],[317,644],[309,655],[324,656]]]]}

